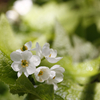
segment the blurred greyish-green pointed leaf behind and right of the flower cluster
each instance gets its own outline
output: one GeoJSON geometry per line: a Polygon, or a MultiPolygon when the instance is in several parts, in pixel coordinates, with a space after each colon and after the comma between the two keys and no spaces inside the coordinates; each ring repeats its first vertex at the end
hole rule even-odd
{"type": "Polygon", "coordinates": [[[91,60],[98,57],[99,54],[99,51],[92,43],[76,35],[69,36],[57,21],[53,48],[57,50],[58,56],[69,55],[74,62],[91,60]]]}

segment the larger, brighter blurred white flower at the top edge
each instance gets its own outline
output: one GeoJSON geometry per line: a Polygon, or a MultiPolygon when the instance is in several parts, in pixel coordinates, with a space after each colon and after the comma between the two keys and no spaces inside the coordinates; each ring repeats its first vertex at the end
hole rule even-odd
{"type": "Polygon", "coordinates": [[[32,0],[17,0],[13,7],[20,15],[25,15],[29,12],[32,5],[32,0]]]}

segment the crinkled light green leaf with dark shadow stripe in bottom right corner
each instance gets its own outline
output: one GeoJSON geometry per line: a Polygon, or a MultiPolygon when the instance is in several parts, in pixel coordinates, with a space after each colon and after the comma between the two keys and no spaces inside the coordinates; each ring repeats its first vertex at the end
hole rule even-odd
{"type": "Polygon", "coordinates": [[[59,89],[55,92],[63,99],[57,100],[99,100],[100,99],[100,83],[88,84],[80,86],[70,79],[63,81],[59,85],[59,89]]]}

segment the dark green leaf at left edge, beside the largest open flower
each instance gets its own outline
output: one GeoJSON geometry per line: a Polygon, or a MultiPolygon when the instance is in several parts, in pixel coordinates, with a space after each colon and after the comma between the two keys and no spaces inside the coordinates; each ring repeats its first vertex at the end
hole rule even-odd
{"type": "Polygon", "coordinates": [[[0,51],[0,80],[10,85],[14,84],[17,78],[16,72],[11,68],[12,61],[0,51]]]}

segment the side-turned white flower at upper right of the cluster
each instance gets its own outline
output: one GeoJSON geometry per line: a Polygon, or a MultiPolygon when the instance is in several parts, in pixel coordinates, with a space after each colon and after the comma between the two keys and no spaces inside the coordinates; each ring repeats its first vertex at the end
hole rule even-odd
{"type": "Polygon", "coordinates": [[[45,43],[42,49],[41,49],[40,45],[38,43],[36,43],[36,48],[32,49],[32,50],[36,50],[36,54],[40,58],[43,58],[43,56],[44,56],[47,59],[47,61],[49,61],[50,63],[56,63],[60,59],[62,59],[62,57],[56,57],[57,51],[50,49],[49,43],[45,43]]]}

